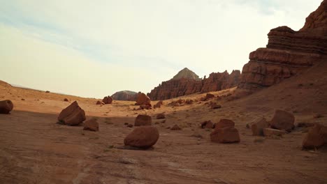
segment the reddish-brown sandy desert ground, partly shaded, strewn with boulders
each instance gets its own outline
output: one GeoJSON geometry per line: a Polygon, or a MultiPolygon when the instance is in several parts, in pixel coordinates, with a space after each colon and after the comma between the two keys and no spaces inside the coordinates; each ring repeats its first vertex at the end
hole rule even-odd
{"type": "MultiPolygon", "coordinates": [[[[293,112],[297,123],[327,125],[327,63],[244,98],[172,107],[164,100],[158,109],[133,110],[135,102],[114,101],[22,89],[2,82],[0,100],[12,100],[11,114],[0,114],[0,183],[327,183],[327,149],[302,150],[305,128],[283,137],[256,137],[246,127],[275,109],[293,112]],[[68,98],[70,102],[64,102],[68,98]],[[62,109],[77,100],[87,119],[97,118],[99,132],[82,126],[57,124],[62,109]],[[158,113],[166,121],[157,120],[158,113]],[[124,148],[138,114],[152,116],[159,129],[149,150],[124,148]],[[315,115],[319,114],[319,118],[315,115]],[[210,141],[202,121],[235,121],[240,143],[210,141]],[[170,130],[173,125],[182,130],[170,130]]],[[[46,89],[45,89],[46,90],[46,89]]],[[[224,96],[234,89],[212,92],[224,96]]],[[[205,94],[183,96],[198,100],[205,94]]],[[[152,102],[155,104],[156,102],[152,102]]]]}

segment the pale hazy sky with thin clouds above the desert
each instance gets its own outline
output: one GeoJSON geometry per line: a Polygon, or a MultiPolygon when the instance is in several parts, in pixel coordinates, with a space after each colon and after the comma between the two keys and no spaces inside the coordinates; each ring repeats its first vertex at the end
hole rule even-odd
{"type": "Polygon", "coordinates": [[[277,26],[322,0],[0,0],[0,80],[103,98],[178,71],[242,70],[277,26]]]}

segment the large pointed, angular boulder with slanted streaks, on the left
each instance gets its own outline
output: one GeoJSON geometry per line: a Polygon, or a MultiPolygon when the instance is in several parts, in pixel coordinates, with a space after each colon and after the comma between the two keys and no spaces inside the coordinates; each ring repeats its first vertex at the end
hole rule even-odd
{"type": "Polygon", "coordinates": [[[63,109],[58,116],[58,121],[66,125],[79,125],[85,119],[85,112],[76,101],[63,109]]]}

